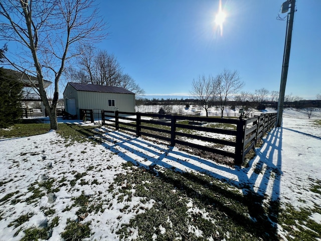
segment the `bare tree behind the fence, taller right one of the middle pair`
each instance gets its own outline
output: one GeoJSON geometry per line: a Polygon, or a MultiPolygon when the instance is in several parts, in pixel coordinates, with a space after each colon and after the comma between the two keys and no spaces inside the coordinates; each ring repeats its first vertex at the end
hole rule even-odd
{"type": "Polygon", "coordinates": [[[217,89],[218,101],[220,102],[221,117],[228,101],[228,98],[238,92],[244,86],[240,80],[239,72],[224,69],[223,72],[216,76],[214,88],[217,89]]]}

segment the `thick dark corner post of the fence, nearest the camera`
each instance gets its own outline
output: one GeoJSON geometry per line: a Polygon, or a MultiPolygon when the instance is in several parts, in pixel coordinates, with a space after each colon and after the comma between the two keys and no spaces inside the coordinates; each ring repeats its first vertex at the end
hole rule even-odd
{"type": "Polygon", "coordinates": [[[238,119],[236,125],[236,147],[234,165],[241,166],[243,162],[244,153],[244,137],[245,137],[245,123],[244,119],[238,119]]]}

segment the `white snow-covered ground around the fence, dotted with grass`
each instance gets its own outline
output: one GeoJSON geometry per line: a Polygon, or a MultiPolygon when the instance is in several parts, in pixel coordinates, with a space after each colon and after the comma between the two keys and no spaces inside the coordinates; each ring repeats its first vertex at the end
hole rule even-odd
{"type": "MultiPolygon", "coordinates": [[[[61,240],[67,220],[78,218],[79,207],[73,204],[82,193],[105,201],[103,212],[89,213],[83,218],[84,222],[91,221],[94,234],[90,240],[119,240],[116,230],[120,225],[128,223],[138,210],[151,208],[154,202],[142,202],[143,198],[136,197],[119,203],[117,193],[108,192],[115,175],[128,171],[121,167],[128,161],[141,166],[203,172],[235,186],[248,184],[266,201],[280,200],[282,205],[320,207],[321,195],[311,191],[315,182],[321,180],[321,128],[314,125],[315,119],[321,119],[320,111],[307,119],[305,113],[285,110],[282,128],[273,129],[262,147],[256,149],[257,155],[249,167],[242,168],[216,164],[121,132],[106,132],[103,127],[97,129],[104,133],[102,145],[69,144],[55,132],[0,140],[0,240],[20,240],[24,230],[46,227],[54,216],[59,216],[59,224],[51,229],[49,240],[61,240]],[[47,188],[37,197],[37,192],[31,191],[51,180],[55,187],[59,186],[58,191],[47,188]],[[125,206],[129,211],[122,212],[125,206]],[[49,210],[54,210],[55,215],[45,215],[49,210]],[[19,217],[29,214],[29,220],[17,224],[19,217]]],[[[321,224],[320,213],[312,213],[310,218],[321,224]]],[[[286,232],[280,225],[278,231],[285,239],[286,232]]],[[[133,230],[133,237],[136,232],[133,230]]]]}

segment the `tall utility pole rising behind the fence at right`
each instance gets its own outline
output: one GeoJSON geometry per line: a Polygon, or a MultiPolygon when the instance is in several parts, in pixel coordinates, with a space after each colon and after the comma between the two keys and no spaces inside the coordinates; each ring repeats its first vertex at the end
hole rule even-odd
{"type": "Polygon", "coordinates": [[[287,79],[287,71],[289,68],[292,28],[293,28],[293,20],[294,20],[294,12],[295,12],[295,0],[288,0],[288,2],[291,4],[291,10],[289,13],[290,18],[289,18],[288,24],[286,24],[287,34],[285,37],[285,46],[284,46],[284,53],[283,53],[280,93],[279,93],[279,101],[277,104],[276,127],[281,127],[282,125],[285,85],[286,85],[286,79],[287,79]]]}

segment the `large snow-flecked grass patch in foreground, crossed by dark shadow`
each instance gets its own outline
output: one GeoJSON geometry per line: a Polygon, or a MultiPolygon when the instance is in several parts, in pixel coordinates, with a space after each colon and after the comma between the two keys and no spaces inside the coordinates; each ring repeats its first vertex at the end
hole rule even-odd
{"type": "Polygon", "coordinates": [[[275,214],[273,210],[264,208],[262,196],[252,192],[242,195],[235,187],[208,175],[172,170],[155,174],[152,168],[132,168],[130,173],[122,173],[115,178],[114,188],[125,187],[117,189],[117,197],[131,193],[144,197],[143,200],[155,201],[150,209],[140,207],[143,213],[121,226],[117,231],[120,238],[126,239],[131,235],[129,227],[137,227],[137,240],[152,240],[154,233],[157,240],[277,239],[276,228],[269,221],[275,214]],[[125,186],[124,183],[130,185],[125,186]],[[135,184],[134,193],[128,192],[131,184],[135,184]],[[193,206],[187,206],[187,203],[193,206]],[[163,234],[158,228],[160,225],[166,228],[163,234]],[[193,228],[201,230],[202,237],[197,237],[191,231],[193,228]]]}

